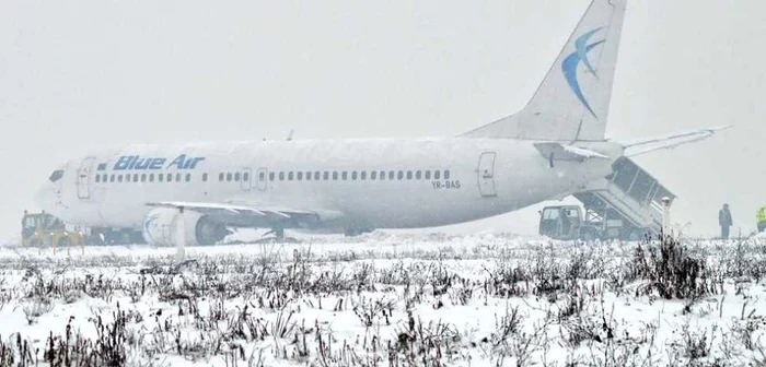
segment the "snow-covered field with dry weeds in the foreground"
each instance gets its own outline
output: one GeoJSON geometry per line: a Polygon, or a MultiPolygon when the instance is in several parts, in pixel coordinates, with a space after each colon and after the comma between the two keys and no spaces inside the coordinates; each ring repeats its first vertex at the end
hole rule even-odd
{"type": "Polygon", "coordinates": [[[0,366],[766,366],[766,240],[0,248],[0,366]]]}

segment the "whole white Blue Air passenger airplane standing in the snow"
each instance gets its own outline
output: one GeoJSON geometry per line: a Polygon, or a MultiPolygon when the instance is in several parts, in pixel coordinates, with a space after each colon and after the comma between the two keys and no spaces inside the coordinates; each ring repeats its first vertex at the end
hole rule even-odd
{"type": "Polygon", "coordinates": [[[358,235],[481,220],[583,190],[620,156],[722,128],[605,138],[627,0],[593,0],[529,103],[456,137],[135,144],[57,167],[35,192],[79,226],[155,246],[212,245],[230,228],[358,235]],[[179,244],[179,245],[178,245],[179,244]]]}

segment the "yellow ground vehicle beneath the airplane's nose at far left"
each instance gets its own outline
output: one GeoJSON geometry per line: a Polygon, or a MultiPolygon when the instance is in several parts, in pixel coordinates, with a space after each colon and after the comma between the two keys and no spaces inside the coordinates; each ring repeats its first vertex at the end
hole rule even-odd
{"type": "Polygon", "coordinates": [[[82,246],[85,241],[82,233],[68,230],[63,222],[46,212],[24,211],[21,225],[21,239],[24,247],[82,246]]]}

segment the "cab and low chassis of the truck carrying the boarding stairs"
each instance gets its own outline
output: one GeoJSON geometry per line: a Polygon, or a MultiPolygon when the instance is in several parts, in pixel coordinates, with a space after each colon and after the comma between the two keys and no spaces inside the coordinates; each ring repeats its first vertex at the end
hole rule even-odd
{"type": "Polygon", "coordinates": [[[579,205],[545,206],[541,211],[538,233],[554,239],[639,240],[648,229],[627,223],[614,209],[602,211],[579,205]]]}

